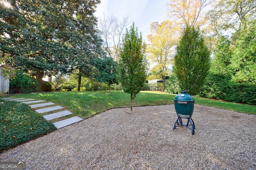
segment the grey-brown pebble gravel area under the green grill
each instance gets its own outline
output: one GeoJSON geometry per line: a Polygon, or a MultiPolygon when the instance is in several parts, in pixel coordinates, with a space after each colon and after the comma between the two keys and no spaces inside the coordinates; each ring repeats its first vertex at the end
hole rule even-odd
{"type": "MultiPolygon", "coordinates": [[[[194,105],[192,135],[174,105],[111,109],[0,154],[27,170],[255,170],[256,115],[194,105]]],[[[184,120],[185,121],[185,120],[184,120]]]]}

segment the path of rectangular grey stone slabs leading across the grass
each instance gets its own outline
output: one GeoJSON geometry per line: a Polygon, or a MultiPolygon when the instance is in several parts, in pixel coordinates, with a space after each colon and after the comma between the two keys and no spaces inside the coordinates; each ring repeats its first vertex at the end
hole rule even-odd
{"type": "MultiPolygon", "coordinates": [[[[43,106],[50,106],[53,105],[55,103],[52,102],[45,102],[44,100],[36,100],[36,99],[25,99],[25,98],[0,98],[0,100],[10,100],[10,101],[16,101],[16,102],[22,102],[24,104],[31,104],[28,105],[30,106],[30,108],[38,108],[38,107],[43,107],[43,106]],[[44,102],[44,103],[40,103],[40,102],[44,102]],[[40,104],[33,104],[33,103],[40,103],[40,104]]],[[[52,106],[52,107],[47,107],[47,108],[42,108],[42,109],[36,109],[35,111],[38,113],[46,113],[46,112],[51,112],[51,111],[56,111],[56,110],[60,110],[63,109],[64,107],[62,106],[52,106]]],[[[45,120],[54,120],[56,118],[61,118],[63,116],[67,116],[73,114],[72,112],[68,111],[68,110],[64,110],[64,111],[60,111],[60,112],[55,112],[52,114],[46,114],[43,117],[45,118],[45,120]]],[[[63,128],[65,126],[68,126],[70,124],[74,124],[76,122],[79,122],[83,120],[82,118],[78,117],[78,116],[74,116],[71,118],[67,118],[64,120],[60,120],[58,122],[54,122],[54,126],[57,129],[63,128]]]]}

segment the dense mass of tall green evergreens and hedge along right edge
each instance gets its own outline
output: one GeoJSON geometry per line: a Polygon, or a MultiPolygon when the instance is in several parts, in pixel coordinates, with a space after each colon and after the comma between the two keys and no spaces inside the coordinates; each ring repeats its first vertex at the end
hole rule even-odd
{"type": "Polygon", "coordinates": [[[244,21],[236,41],[218,37],[201,97],[255,104],[256,22],[244,21]]]}

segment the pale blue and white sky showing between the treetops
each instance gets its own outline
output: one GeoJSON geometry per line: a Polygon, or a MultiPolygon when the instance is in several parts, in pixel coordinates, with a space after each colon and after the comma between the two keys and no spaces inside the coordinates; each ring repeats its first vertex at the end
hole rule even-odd
{"type": "MultiPolygon", "coordinates": [[[[115,16],[122,19],[123,16],[129,16],[128,29],[134,22],[142,37],[146,41],[146,37],[150,33],[150,24],[152,22],[161,23],[167,20],[167,6],[170,0],[101,0],[97,5],[94,15],[97,18],[103,16],[115,16]]],[[[125,32],[124,32],[125,33],[125,32]]]]}

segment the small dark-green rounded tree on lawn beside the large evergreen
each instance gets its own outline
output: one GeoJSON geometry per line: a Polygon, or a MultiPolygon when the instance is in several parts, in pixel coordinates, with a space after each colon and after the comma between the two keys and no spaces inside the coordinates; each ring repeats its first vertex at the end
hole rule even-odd
{"type": "Polygon", "coordinates": [[[111,84],[117,83],[116,67],[117,62],[111,57],[96,58],[95,66],[98,69],[96,80],[108,84],[109,92],[111,84]]]}

